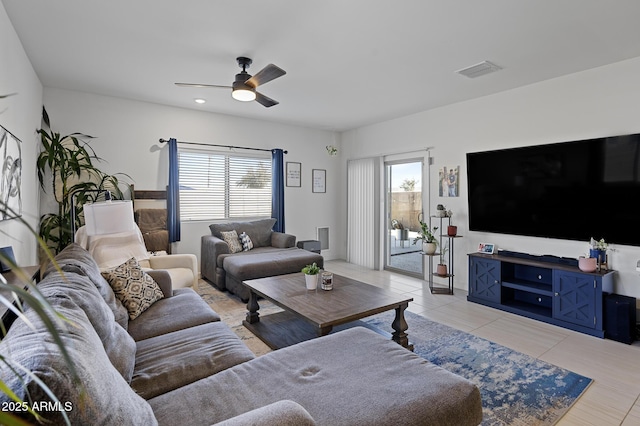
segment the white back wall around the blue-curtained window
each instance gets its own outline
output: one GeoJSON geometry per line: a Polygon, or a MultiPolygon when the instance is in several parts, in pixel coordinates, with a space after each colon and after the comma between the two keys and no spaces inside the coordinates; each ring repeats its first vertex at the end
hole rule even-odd
{"type": "MultiPolygon", "coordinates": [[[[308,240],[316,238],[316,227],[329,226],[331,245],[322,254],[325,259],[344,257],[342,169],[339,157],[330,157],[325,149],[339,143],[333,132],[51,88],[45,88],[44,104],[55,131],[96,137],[91,145],[106,161],[99,168],[128,174],[139,190],[167,185],[168,150],[160,138],[287,150],[285,161],[302,163],[302,187],[285,188],[286,232],[308,240]],[[327,170],[324,194],[311,192],[314,168],[327,170]]],[[[199,258],[200,237],[210,233],[210,223],[183,222],[174,252],[199,258]]]]}

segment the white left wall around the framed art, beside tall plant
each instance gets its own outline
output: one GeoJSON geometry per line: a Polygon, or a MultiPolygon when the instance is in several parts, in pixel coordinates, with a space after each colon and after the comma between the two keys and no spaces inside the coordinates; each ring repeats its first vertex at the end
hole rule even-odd
{"type": "MultiPolygon", "coordinates": [[[[22,219],[38,223],[35,130],[40,127],[42,84],[0,2],[0,124],[22,141],[22,219]]],[[[20,219],[0,221],[0,247],[12,246],[19,265],[37,263],[35,236],[20,219]]]]}

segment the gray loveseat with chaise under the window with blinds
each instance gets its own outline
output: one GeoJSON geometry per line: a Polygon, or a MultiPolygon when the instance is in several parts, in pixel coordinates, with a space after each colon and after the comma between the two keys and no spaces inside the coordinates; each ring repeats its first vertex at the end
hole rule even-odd
{"type": "Polygon", "coordinates": [[[295,247],[294,235],[272,231],[275,223],[275,219],[260,219],[211,224],[211,235],[203,235],[201,239],[202,278],[246,302],[249,290],[242,281],[300,272],[313,262],[321,268],[324,266],[321,255],[295,247]],[[249,235],[253,248],[231,253],[222,235],[228,231],[249,235]]]}

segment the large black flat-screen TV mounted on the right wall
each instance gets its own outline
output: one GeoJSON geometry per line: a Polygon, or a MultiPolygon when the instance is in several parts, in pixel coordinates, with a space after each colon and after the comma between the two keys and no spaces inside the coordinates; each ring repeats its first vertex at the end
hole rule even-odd
{"type": "Polygon", "coordinates": [[[472,231],[640,246],[640,134],[471,152],[467,185],[472,231]]]}

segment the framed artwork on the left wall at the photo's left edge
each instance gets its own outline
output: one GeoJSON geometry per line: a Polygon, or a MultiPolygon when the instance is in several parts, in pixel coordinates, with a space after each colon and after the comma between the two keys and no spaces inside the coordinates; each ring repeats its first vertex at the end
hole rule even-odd
{"type": "Polygon", "coordinates": [[[22,216],[22,142],[0,126],[0,220],[22,216]]]}

